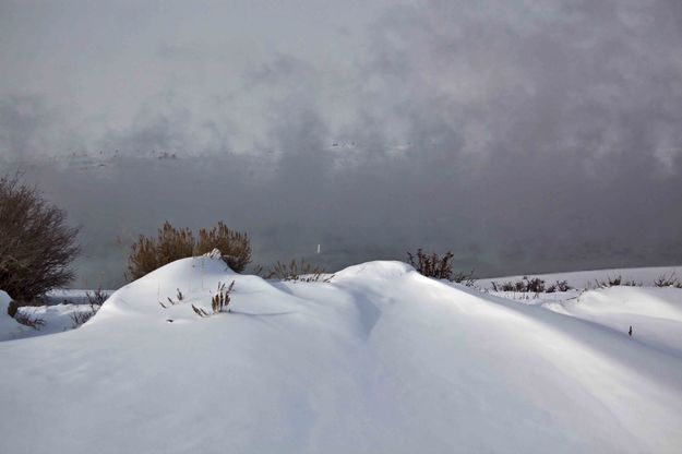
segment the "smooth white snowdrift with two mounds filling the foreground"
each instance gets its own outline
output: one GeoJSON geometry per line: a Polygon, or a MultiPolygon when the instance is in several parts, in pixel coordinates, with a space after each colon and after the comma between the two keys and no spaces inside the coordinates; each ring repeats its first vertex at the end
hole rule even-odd
{"type": "Polygon", "coordinates": [[[0,343],[0,452],[681,452],[682,290],[549,298],[182,260],[79,330],[0,343]],[[232,280],[231,312],[194,313],[232,280]]]}

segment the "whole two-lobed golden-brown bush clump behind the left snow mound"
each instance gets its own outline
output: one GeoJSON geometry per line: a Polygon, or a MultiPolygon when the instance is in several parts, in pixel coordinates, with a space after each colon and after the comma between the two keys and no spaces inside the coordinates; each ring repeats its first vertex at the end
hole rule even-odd
{"type": "Polygon", "coordinates": [[[223,261],[236,272],[242,272],[251,262],[247,234],[230,230],[223,222],[211,230],[200,230],[199,241],[189,228],[176,228],[166,222],[156,238],[141,235],[131,247],[127,277],[137,279],[170,262],[214,249],[220,251],[223,261]]]}

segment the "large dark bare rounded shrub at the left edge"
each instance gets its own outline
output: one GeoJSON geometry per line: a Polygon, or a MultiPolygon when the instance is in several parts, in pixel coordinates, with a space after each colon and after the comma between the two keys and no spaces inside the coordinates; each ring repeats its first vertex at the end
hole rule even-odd
{"type": "Polygon", "coordinates": [[[0,178],[0,288],[19,306],[73,279],[77,234],[35,187],[0,178]]]}

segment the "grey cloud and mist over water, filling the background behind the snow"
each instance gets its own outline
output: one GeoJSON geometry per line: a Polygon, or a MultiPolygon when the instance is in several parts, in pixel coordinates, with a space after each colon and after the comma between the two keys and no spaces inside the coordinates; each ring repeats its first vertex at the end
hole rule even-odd
{"type": "Polygon", "coordinates": [[[0,170],[83,227],[76,286],[164,219],[263,264],[682,264],[679,0],[0,0],[0,170]]]}

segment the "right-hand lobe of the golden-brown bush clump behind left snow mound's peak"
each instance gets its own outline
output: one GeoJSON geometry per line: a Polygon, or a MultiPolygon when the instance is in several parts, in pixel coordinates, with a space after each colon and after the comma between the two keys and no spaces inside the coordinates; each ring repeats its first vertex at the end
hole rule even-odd
{"type": "Polygon", "coordinates": [[[230,230],[225,223],[219,222],[211,230],[199,230],[196,255],[218,249],[223,261],[235,272],[241,273],[251,262],[251,242],[249,236],[241,231],[230,230]]]}

